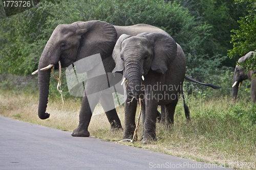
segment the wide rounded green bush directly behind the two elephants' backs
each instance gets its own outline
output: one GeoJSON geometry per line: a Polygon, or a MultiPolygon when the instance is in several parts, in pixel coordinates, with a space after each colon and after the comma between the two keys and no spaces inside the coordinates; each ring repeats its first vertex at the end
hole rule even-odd
{"type": "MultiPolygon", "coordinates": [[[[215,60],[215,57],[218,61],[222,60],[219,59],[221,56],[208,55],[211,27],[208,24],[197,22],[195,17],[191,16],[189,11],[178,3],[141,0],[111,2],[107,0],[79,1],[79,3],[78,1],[67,1],[58,6],[52,6],[51,16],[48,17],[47,21],[49,26],[47,27],[53,30],[59,23],[93,19],[120,26],[147,23],[159,27],[172,35],[176,42],[182,46],[188,59],[187,75],[200,81],[209,77],[210,74],[205,61],[215,60]],[[207,75],[204,75],[205,72],[207,75]]],[[[220,62],[214,62],[214,64],[220,64],[220,62]]],[[[211,66],[217,67],[214,64],[211,66]]]]}

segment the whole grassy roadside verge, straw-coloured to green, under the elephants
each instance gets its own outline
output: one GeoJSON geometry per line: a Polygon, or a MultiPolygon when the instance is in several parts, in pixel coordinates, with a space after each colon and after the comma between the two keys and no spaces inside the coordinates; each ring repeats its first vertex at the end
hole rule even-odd
{"type": "MultiPolygon", "coordinates": [[[[183,104],[179,101],[174,127],[166,130],[157,123],[157,141],[147,145],[140,141],[120,143],[202,162],[226,164],[232,168],[237,168],[239,162],[256,162],[255,104],[247,99],[233,103],[227,97],[209,99],[187,96],[186,102],[190,109],[190,123],[186,122],[183,104]]],[[[1,115],[70,132],[78,125],[80,104],[80,99],[68,98],[62,106],[60,97],[50,98],[47,111],[51,116],[41,120],[37,116],[37,94],[0,90],[1,115]]],[[[124,127],[123,108],[117,108],[117,112],[124,127]]],[[[139,138],[141,127],[140,123],[139,138]]],[[[109,129],[103,113],[92,116],[89,126],[91,136],[114,142],[122,139],[123,131],[109,129]]]]}

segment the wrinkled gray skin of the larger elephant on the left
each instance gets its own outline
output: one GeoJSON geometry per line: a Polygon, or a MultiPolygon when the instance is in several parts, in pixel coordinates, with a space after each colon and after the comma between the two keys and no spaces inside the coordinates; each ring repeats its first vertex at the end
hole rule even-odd
{"type": "MultiPolygon", "coordinates": [[[[56,68],[58,61],[60,61],[61,67],[67,67],[82,58],[100,53],[105,72],[112,72],[115,62],[111,55],[119,36],[121,34],[133,36],[143,32],[162,32],[167,35],[157,27],[144,24],[121,27],[112,26],[102,21],[87,21],[57,26],[41,54],[38,65],[39,118],[46,119],[50,116],[46,109],[51,69],[40,70],[41,68],[49,64],[54,64],[56,68]]],[[[93,83],[87,83],[86,86],[90,86],[90,84],[93,83]]],[[[102,83],[97,82],[97,88],[106,89],[108,88],[108,83],[105,81],[102,81],[102,83]]],[[[101,96],[97,96],[97,98],[99,102],[105,100],[101,96]]],[[[114,104],[112,94],[107,99],[111,104],[114,104]]],[[[102,107],[104,109],[104,106],[102,107]]],[[[72,132],[72,136],[90,136],[88,126],[92,116],[91,110],[94,110],[94,106],[90,107],[87,94],[84,92],[79,113],[79,124],[72,132]]],[[[111,129],[122,128],[116,109],[107,111],[105,114],[111,124],[111,129]]]]}

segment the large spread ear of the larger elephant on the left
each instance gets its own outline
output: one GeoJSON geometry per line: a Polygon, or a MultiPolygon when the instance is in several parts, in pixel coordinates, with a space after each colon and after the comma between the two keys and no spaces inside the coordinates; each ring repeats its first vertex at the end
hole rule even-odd
{"type": "Polygon", "coordinates": [[[77,60],[100,53],[103,59],[110,57],[116,43],[117,32],[108,22],[92,20],[74,22],[81,36],[77,60]]]}

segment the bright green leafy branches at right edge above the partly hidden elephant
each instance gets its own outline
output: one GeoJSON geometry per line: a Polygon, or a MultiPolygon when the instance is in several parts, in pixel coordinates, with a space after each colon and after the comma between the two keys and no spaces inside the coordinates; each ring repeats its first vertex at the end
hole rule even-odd
{"type": "MultiPolygon", "coordinates": [[[[240,17],[239,29],[232,30],[231,43],[233,43],[232,50],[229,50],[228,56],[230,58],[243,56],[249,51],[256,50],[256,2],[255,0],[235,0],[236,4],[246,4],[248,14],[245,17],[240,17]]],[[[255,56],[255,53],[254,53],[255,56]]],[[[245,65],[249,70],[256,69],[256,57],[248,60],[245,65]]]]}

